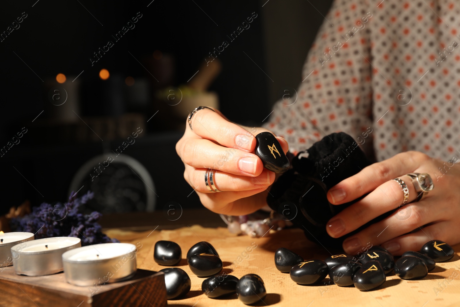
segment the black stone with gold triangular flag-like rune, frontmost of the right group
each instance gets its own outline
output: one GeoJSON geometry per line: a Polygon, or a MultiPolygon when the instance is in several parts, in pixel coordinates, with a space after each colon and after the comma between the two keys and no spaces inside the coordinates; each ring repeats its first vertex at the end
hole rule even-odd
{"type": "Polygon", "coordinates": [[[386,276],[379,261],[368,261],[355,273],[353,283],[358,290],[368,291],[385,283],[386,276]]]}

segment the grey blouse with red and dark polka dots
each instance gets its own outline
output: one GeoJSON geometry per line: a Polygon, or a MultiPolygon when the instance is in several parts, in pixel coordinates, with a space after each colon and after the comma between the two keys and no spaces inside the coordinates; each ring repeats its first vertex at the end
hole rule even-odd
{"type": "Polygon", "coordinates": [[[343,131],[377,161],[459,157],[459,43],[459,1],[335,1],[297,97],[276,102],[265,127],[293,154],[343,131]]]}

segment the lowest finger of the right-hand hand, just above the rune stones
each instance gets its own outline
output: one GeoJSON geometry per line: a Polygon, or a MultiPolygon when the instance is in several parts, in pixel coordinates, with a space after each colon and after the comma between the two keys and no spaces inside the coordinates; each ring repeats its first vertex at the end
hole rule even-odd
{"type": "Polygon", "coordinates": [[[419,251],[422,246],[432,240],[454,242],[459,227],[452,221],[440,221],[430,226],[421,228],[418,232],[394,238],[382,244],[392,255],[400,256],[408,250],[419,251]]]}

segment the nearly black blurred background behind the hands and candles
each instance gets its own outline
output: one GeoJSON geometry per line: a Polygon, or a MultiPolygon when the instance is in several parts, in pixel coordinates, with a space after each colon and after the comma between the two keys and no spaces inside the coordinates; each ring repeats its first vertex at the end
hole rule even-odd
{"type": "Polygon", "coordinates": [[[283,89],[297,87],[301,81],[301,66],[331,2],[150,1],[32,0],[1,4],[0,32],[23,12],[28,16],[19,29],[0,42],[0,147],[22,127],[27,127],[28,133],[0,157],[0,214],[26,199],[34,206],[66,200],[70,181],[81,165],[125,140],[77,140],[62,133],[65,125],[56,125],[46,81],[58,73],[71,81],[82,70],[77,79],[81,118],[97,123],[128,113],[143,116],[142,138],[123,153],[149,171],[158,195],[156,209],[170,201],[185,208],[201,206],[183,179],[184,166],[174,148],[184,131],[185,118],[174,114],[175,106],[156,99],[156,91],[186,84],[205,63],[207,53],[228,41],[226,35],[256,12],[258,17],[251,27],[219,55],[222,71],[209,90],[219,95],[220,110],[230,120],[260,126],[283,89]],[[142,18],[135,28],[115,42],[111,35],[137,12],[142,18]],[[115,45],[92,66],[93,52],[108,40],[115,45]],[[160,51],[163,59],[172,59],[173,65],[167,70],[171,78],[163,78],[162,70],[158,70],[155,51],[160,51]],[[106,83],[98,77],[103,68],[110,72],[106,83]],[[127,76],[138,84],[148,84],[148,99],[132,103],[127,85],[114,83],[127,76]]]}

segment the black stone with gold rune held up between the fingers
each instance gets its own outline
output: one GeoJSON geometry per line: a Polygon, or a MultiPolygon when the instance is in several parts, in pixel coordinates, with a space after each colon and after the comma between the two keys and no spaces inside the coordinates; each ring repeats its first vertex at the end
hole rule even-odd
{"type": "Polygon", "coordinates": [[[289,169],[289,159],[270,132],[261,132],[256,135],[256,149],[254,152],[264,163],[264,167],[272,172],[281,174],[289,169]]]}

